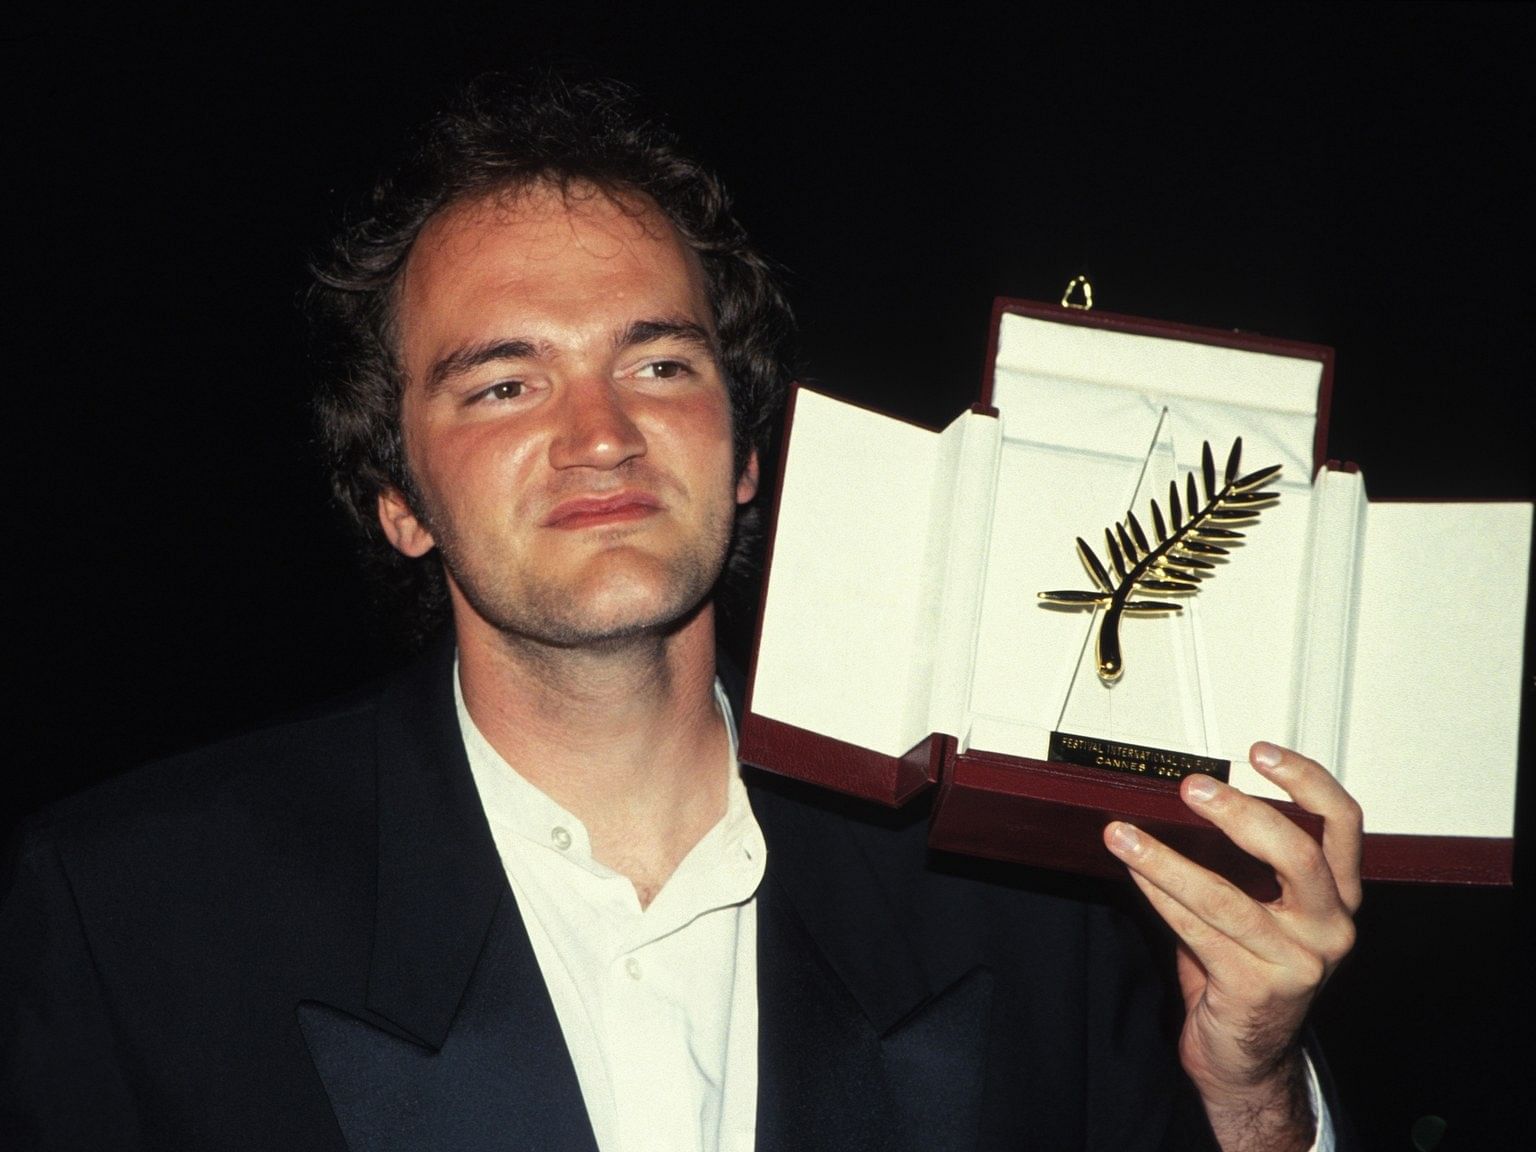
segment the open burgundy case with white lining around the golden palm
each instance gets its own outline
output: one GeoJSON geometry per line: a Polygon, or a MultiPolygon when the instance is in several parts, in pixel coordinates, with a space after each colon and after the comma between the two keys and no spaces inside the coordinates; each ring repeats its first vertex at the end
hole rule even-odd
{"type": "Polygon", "coordinates": [[[1319,346],[1000,300],[980,401],[943,432],[796,390],[742,759],[891,806],[937,788],[940,849],[1123,876],[1101,829],[1124,819],[1270,895],[1175,780],[1048,745],[1230,760],[1321,836],[1247,766],[1272,739],[1342,768],[1367,877],[1508,883],[1530,505],[1370,504],[1324,462],[1332,378],[1319,346]],[[1223,459],[1236,435],[1243,472],[1283,465],[1275,510],[1184,611],[1123,622],[1126,674],[1103,684],[1101,613],[1037,593],[1091,587],[1074,538],[1127,507],[1147,522],[1203,441],[1223,459]],[[1424,570],[1416,541],[1447,533],[1424,570]],[[1444,605],[1436,564],[1499,607],[1444,605]]]}

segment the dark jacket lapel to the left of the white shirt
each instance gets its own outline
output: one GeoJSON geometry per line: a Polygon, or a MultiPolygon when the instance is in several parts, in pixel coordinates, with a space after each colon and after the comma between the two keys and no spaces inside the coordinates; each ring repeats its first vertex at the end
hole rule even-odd
{"type": "Polygon", "coordinates": [[[300,1005],[352,1149],[596,1152],[559,1020],[470,774],[444,645],[378,711],[364,1005],[300,1005]]]}

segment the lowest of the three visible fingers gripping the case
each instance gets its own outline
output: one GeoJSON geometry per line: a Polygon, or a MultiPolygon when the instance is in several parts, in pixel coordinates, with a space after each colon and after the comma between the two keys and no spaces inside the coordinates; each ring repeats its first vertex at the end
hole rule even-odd
{"type": "Polygon", "coordinates": [[[1290,934],[1264,905],[1226,879],[1129,823],[1111,823],[1104,845],[1130,869],[1143,892],[1158,892],[1154,908],[1206,968],[1223,958],[1218,940],[1224,942],[1221,948],[1240,948],[1264,963],[1296,963],[1299,946],[1290,934]],[[1181,911],[1166,911],[1166,902],[1181,911]]]}

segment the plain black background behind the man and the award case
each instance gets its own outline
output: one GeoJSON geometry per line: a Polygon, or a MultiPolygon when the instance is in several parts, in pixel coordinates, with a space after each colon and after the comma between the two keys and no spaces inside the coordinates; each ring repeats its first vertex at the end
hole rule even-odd
{"type": "MultiPolygon", "coordinates": [[[[399,659],[327,504],[295,303],[487,68],[637,84],[845,395],[948,421],[992,296],[1087,272],[1115,312],[1336,347],[1330,455],[1373,498],[1531,498],[1530,8],[833,8],[12,15],[5,823],[399,659]]],[[[1525,750],[1516,889],[1373,886],[1319,1009],[1370,1147],[1425,1115],[1442,1149],[1536,1130],[1525,750]]]]}

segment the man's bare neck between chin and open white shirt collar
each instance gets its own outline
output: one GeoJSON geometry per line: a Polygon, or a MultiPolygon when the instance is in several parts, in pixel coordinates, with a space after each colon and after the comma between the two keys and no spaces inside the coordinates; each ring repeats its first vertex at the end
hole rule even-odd
{"type": "Polygon", "coordinates": [[[475,725],[648,903],[725,814],[713,605],[671,631],[596,648],[531,644],[478,617],[458,617],[456,631],[475,725]]]}

